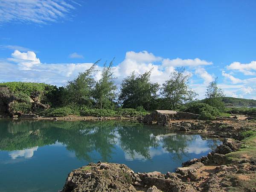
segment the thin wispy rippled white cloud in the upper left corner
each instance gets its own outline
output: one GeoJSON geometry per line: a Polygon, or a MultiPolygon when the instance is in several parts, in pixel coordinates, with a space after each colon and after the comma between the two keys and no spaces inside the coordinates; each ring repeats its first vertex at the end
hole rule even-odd
{"type": "Polygon", "coordinates": [[[67,14],[75,9],[72,4],[67,0],[0,0],[0,23],[56,22],[67,19],[67,14]]]}

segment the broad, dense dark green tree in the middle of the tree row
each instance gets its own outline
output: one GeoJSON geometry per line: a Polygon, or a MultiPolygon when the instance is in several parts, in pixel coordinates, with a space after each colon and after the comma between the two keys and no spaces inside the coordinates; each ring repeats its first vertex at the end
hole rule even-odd
{"type": "Polygon", "coordinates": [[[137,108],[142,106],[146,110],[154,109],[159,84],[150,82],[151,71],[140,76],[135,72],[126,77],[121,84],[119,101],[123,108],[137,108]]]}

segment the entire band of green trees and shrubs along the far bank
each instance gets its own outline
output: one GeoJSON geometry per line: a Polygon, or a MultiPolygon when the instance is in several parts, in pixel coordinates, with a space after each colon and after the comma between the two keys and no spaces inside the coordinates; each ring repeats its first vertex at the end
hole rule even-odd
{"type": "Polygon", "coordinates": [[[184,75],[184,68],[172,71],[170,78],[162,85],[151,83],[151,70],[139,76],[133,72],[123,79],[118,93],[113,77],[113,61],[108,65],[105,62],[101,78],[95,80],[95,67],[99,62],[79,73],[64,87],[31,82],[6,82],[0,83],[0,87],[9,87],[13,93],[15,102],[11,105],[12,112],[34,112],[41,116],[143,116],[155,109],[199,113],[201,119],[215,119],[221,112],[256,114],[255,109],[226,109],[224,102],[254,106],[256,101],[224,97],[217,79],[209,83],[205,99],[193,101],[197,94],[189,87],[190,75],[184,75]],[[51,108],[32,111],[31,98],[35,97],[51,108]]]}

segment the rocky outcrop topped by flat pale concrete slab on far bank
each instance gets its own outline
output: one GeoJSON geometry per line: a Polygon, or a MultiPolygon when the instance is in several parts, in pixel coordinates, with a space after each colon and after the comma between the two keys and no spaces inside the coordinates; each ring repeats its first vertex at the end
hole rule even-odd
{"type": "MultiPolygon", "coordinates": [[[[170,121],[180,119],[197,119],[200,115],[194,113],[186,113],[179,111],[169,110],[156,110],[151,114],[146,115],[141,122],[153,123],[157,122],[157,125],[169,126],[170,121]]],[[[186,130],[184,130],[186,131],[186,130]]]]}

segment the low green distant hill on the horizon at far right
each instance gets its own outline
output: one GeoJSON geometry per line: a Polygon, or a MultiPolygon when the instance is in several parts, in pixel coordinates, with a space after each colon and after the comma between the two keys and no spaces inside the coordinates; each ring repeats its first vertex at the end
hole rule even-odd
{"type": "Polygon", "coordinates": [[[241,99],[234,97],[223,97],[222,102],[226,106],[236,106],[236,107],[256,107],[256,100],[254,99],[241,99]]]}

